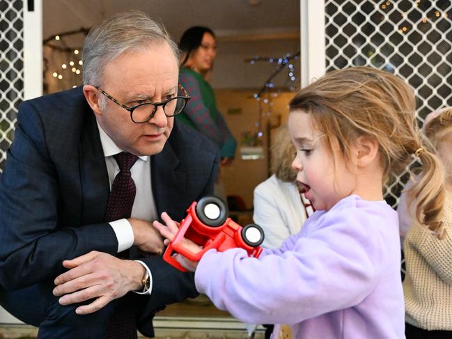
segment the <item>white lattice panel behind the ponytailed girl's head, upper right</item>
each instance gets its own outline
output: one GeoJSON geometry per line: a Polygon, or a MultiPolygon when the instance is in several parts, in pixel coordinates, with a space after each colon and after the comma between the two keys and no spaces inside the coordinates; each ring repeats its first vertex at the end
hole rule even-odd
{"type": "MultiPolygon", "coordinates": [[[[451,1],[325,1],[327,71],[367,65],[405,79],[417,119],[452,105],[451,1]]],[[[394,207],[407,173],[387,187],[394,207]]]]}

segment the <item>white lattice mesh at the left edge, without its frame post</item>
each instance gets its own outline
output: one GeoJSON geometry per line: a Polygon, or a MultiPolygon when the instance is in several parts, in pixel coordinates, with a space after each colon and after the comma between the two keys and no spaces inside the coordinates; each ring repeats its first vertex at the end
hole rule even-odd
{"type": "Polygon", "coordinates": [[[0,173],[24,97],[23,1],[0,1],[0,173]]]}

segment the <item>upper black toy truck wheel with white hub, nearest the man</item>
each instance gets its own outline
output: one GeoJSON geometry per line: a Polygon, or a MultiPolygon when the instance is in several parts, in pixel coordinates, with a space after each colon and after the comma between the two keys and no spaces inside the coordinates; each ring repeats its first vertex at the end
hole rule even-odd
{"type": "Polygon", "coordinates": [[[228,207],[216,196],[205,196],[196,203],[196,216],[205,225],[218,227],[228,219],[228,207]]]}

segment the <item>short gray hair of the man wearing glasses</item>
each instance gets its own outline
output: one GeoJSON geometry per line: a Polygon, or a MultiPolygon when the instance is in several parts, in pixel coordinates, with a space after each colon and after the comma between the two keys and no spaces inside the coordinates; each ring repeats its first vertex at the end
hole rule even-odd
{"type": "Polygon", "coordinates": [[[95,25],[86,36],[83,47],[83,82],[100,86],[104,67],[125,52],[137,52],[151,45],[168,42],[176,57],[179,50],[162,24],[143,12],[119,13],[95,25]]]}

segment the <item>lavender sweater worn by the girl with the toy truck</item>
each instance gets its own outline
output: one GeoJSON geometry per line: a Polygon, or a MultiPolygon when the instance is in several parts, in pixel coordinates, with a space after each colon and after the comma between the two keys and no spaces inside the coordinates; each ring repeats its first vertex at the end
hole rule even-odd
{"type": "Polygon", "coordinates": [[[405,338],[398,218],[384,201],[343,198],[259,259],[210,250],[195,281],[243,322],[290,325],[274,338],[405,338]]]}

